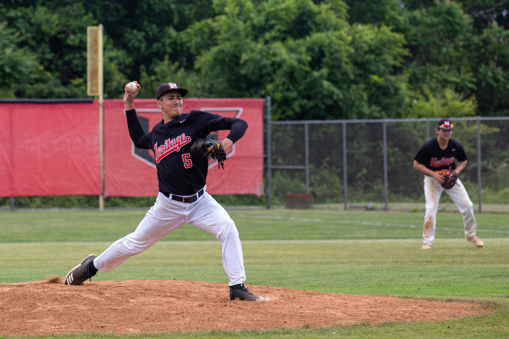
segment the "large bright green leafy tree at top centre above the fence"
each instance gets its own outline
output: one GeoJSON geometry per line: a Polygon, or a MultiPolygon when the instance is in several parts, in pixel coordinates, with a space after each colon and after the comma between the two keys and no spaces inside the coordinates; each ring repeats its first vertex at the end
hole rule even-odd
{"type": "Polygon", "coordinates": [[[342,2],[224,0],[186,30],[215,97],[273,98],[275,119],[401,116],[402,36],[345,21],[342,2]]]}

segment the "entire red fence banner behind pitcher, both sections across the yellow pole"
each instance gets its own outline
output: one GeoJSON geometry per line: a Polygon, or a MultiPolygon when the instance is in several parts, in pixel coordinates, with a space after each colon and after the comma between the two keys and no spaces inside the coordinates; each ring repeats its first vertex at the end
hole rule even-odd
{"type": "MultiPolygon", "coordinates": [[[[135,101],[146,132],[162,119],[155,100],[135,101]]],[[[184,112],[240,117],[249,128],[225,169],[209,163],[210,194],[263,194],[263,99],[185,99],[184,112]]],[[[222,140],[229,131],[214,135],[222,140]]],[[[1,103],[0,196],[100,195],[99,104],[1,103]]],[[[152,150],[134,147],[122,100],[104,101],[106,196],[155,196],[152,150]]]]}

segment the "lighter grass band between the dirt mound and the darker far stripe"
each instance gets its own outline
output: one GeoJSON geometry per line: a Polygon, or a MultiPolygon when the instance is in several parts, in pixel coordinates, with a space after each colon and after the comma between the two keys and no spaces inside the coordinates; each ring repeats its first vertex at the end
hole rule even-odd
{"type": "MultiPolygon", "coordinates": [[[[487,238],[484,249],[443,239],[431,251],[418,240],[244,241],[247,284],[321,292],[399,296],[505,298],[509,239],[487,238]]],[[[64,276],[106,242],[0,244],[1,283],[64,276]]],[[[192,280],[228,283],[221,245],[160,241],[94,280],[192,280]]]]}

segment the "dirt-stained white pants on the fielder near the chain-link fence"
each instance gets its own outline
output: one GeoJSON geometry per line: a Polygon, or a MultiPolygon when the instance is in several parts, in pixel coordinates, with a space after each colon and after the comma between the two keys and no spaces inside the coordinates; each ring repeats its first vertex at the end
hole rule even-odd
{"type": "Polygon", "coordinates": [[[424,196],[426,197],[426,212],[424,213],[424,230],[422,232],[423,243],[432,245],[433,239],[435,239],[438,200],[443,191],[453,200],[463,216],[465,236],[471,237],[475,235],[477,231],[477,224],[475,223],[474,210],[472,207],[473,204],[461,180],[457,179],[455,186],[446,190],[434,177],[425,175],[424,196]]]}

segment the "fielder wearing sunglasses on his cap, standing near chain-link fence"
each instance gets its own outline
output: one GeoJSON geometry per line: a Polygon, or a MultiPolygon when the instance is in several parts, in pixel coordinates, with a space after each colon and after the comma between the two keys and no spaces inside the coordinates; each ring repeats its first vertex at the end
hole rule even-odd
{"type": "Polygon", "coordinates": [[[473,204],[460,179],[455,186],[448,190],[442,187],[444,177],[438,172],[442,169],[454,170],[460,173],[467,165],[467,156],[461,144],[451,138],[453,124],[447,118],[442,118],[437,124],[437,137],[426,142],[419,149],[414,158],[413,166],[424,176],[424,195],[426,198],[426,212],[424,214],[424,230],[422,232],[421,250],[430,250],[435,239],[437,224],[438,200],[443,191],[453,200],[463,215],[465,239],[478,247],[484,242],[475,233],[477,225],[474,218],[473,204]],[[456,166],[456,160],[459,164],[456,166]]]}

